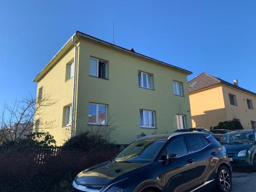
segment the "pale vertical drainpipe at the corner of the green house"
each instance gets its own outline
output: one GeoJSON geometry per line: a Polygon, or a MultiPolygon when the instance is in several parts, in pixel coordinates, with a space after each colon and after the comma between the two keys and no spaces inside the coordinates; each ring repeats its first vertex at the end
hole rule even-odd
{"type": "Polygon", "coordinates": [[[77,45],[74,42],[74,35],[71,38],[75,47],[74,56],[74,76],[73,76],[73,94],[72,94],[72,112],[71,112],[71,138],[74,136],[74,113],[75,113],[75,95],[76,95],[76,60],[77,60],[77,45]]]}

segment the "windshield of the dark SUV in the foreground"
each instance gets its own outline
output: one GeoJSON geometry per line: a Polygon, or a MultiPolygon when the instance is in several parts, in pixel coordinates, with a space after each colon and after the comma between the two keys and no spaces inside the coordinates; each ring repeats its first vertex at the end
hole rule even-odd
{"type": "Polygon", "coordinates": [[[151,162],[166,139],[161,140],[138,140],[124,148],[114,159],[118,162],[151,162]]]}

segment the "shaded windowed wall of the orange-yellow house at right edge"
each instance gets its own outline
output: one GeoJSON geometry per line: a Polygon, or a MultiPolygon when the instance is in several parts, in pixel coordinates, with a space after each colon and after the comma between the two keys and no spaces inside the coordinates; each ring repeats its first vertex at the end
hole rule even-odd
{"type": "Polygon", "coordinates": [[[222,87],[227,120],[240,119],[245,129],[251,129],[251,121],[256,121],[256,96],[225,85],[222,87]],[[229,94],[236,95],[238,106],[230,104],[229,94]],[[246,99],[252,100],[254,110],[248,109],[246,99]]]}

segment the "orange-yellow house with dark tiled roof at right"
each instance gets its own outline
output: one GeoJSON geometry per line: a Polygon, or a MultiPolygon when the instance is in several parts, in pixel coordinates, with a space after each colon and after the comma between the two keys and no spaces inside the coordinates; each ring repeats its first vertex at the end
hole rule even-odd
{"type": "Polygon", "coordinates": [[[256,93],[206,73],[188,82],[194,127],[209,129],[219,122],[239,120],[244,129],[256,127],[256,93]]]}

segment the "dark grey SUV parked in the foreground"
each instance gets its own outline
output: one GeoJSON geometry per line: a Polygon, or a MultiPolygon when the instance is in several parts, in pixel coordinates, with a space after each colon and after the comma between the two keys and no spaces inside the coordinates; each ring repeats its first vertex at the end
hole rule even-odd
{"type": "Polygon", "coordinates": [[[231,166],[225,147],[209,134],[154,135],[83,170],[73,187],[88,192],[231,191],[231,166]]]}

